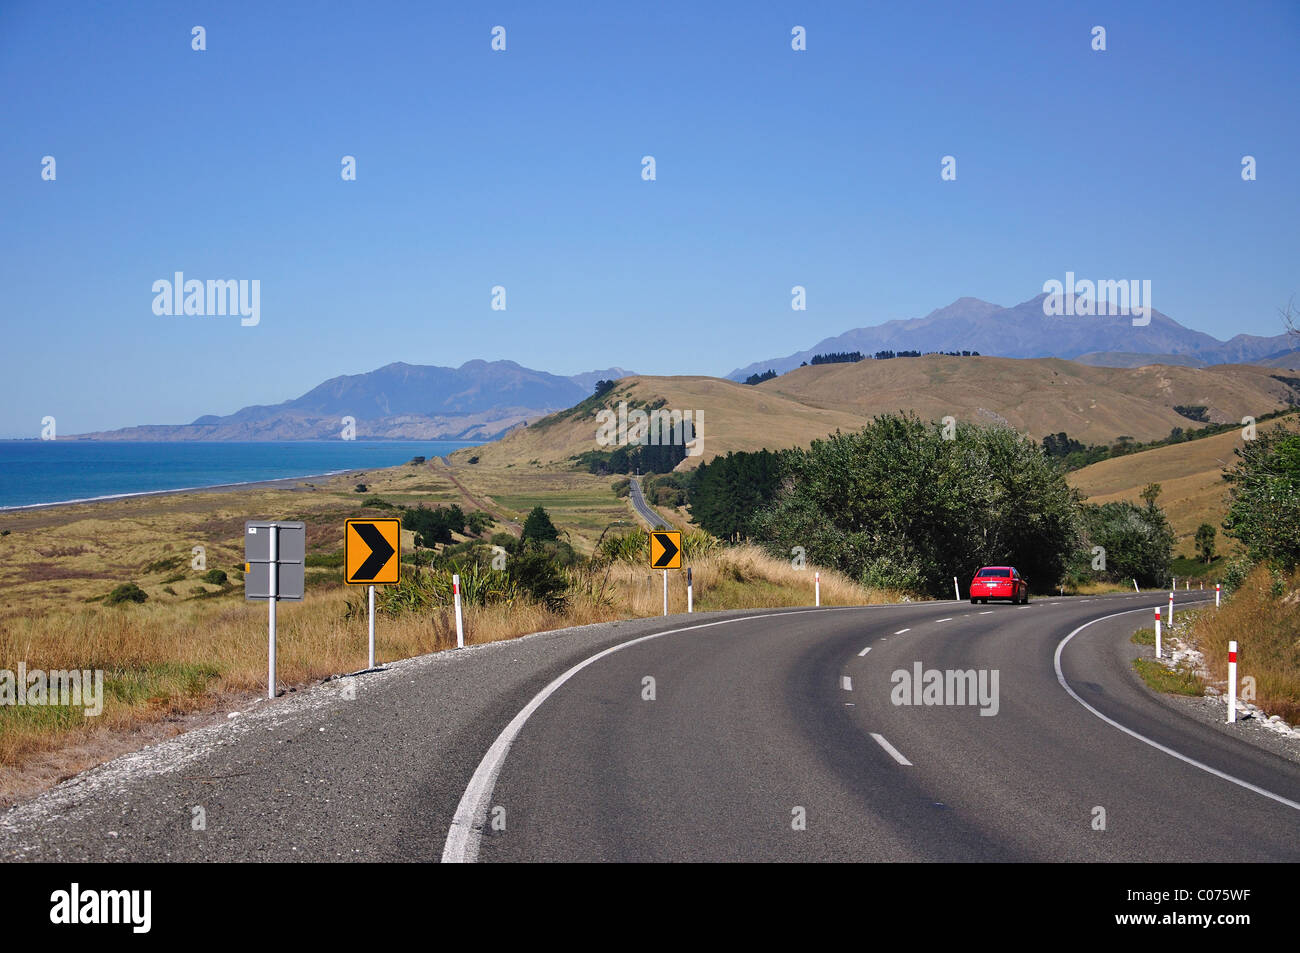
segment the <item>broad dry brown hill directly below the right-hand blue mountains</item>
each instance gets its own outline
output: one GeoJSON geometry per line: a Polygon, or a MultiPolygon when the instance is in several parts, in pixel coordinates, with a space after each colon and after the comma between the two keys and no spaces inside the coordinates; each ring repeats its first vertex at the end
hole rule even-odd
{"type": "Polygon", "coordinates": [[[954,416],[1008,424],[1041,438],[1066,432],[1084,443],[1121,434],[1139,441],[1196,426],[1173,408],[1204,404],[1209,420],[1227,423],[1300,398],[1275,371],[1221,364],[1206,368],[1148,365],[1102,368],[1054,358],[894,358],[796,368],[759,390],[812,407],[874,416],[913,410],[927,420],[954,416]]]}

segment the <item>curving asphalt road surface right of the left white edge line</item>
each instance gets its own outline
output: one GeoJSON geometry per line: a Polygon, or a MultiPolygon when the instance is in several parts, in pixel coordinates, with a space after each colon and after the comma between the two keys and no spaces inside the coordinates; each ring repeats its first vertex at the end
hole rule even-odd
{"type": "Polygon", "coordinates": [[[1300,768],[1132,675],[1154,601],[828,610],[637,640],[516,716],[476,792],[488,810],[452,826],[445,859],[1300,859],[1300,768]],[[1061,650],[1075,697],[1056,657],[1080,625],[1061,650]],[[997,671],[996,714],[894,705],[893,672],[918,662],[997,671]]]}

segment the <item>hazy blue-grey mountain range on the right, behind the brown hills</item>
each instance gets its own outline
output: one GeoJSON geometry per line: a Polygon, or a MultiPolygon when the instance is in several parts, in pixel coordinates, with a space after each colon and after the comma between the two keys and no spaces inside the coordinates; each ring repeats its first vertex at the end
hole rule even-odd
{"type": "MultiPolygon", "coordinates": [[[[1275,355],[1290,347],[1286,334],[1271,338],[1238,334],[1219,341],[1191,330],[1160,311],[1152,311],[1150,324],[1135,328],[1123,315],[1092,317],[1048,317],[1037,295],[1011,308],[958,298],[948,307],[909,320],[887,321],[870,328],[854,328],[814,347],[784,358],[755,361],[732,371],[728,377],[744,381],[768,368],[785,373],[811,361],[814,355],[832,351],[979,351],[1000,358],[1066,358],[1088,355],[1100,364],[1115,355],[1114,367],[1134,367],[1134,355],[1152,358],[1148,363],[1175,363],[1167,356],[1195,359],[1204,364],[1244,364],[1275,355]]],[[[1176,363],[1192,363],[1182,360],[1176,363]]]]}

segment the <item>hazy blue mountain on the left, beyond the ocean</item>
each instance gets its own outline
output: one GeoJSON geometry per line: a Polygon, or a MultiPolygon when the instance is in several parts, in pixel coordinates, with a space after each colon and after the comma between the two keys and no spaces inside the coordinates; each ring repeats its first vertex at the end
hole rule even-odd
{"type": "Polygon", "coordinates": [[[328,439],[343,417],[359,439],[494,439],[514,426],[571,407],[592,394],[597,380],[625,371],[592,371],[559,377],[510,360],[471,360],[459,368],[387,364],[363,374],[333,377],[302,397],[256,404],[192,424],[156,424],[105,433],[95,439],[328,439]],[[590,378],[590,385],[588,380],[590,378]]]}

